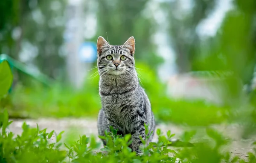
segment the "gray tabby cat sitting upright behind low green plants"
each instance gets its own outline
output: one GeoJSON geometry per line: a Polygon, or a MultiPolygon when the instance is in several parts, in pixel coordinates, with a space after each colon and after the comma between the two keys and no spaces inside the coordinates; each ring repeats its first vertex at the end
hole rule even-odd
{"type": "MultiPolygon", "coordinates": [[[[109,126],[118,129],[117,134],[131,134],[131,149],[143,154],[145,140],[144,123],[149,133],[155,130],[154,115],[147,94],[140,86],[134,65],[135,40],[130,37],[122,46],[112,46],[103,38],[97,41],[99,94],[102,109],[99,111],[98,132],[104,136],[109,126]]],[[[102,140],[104,145],[106,142],[102,140]]]]}

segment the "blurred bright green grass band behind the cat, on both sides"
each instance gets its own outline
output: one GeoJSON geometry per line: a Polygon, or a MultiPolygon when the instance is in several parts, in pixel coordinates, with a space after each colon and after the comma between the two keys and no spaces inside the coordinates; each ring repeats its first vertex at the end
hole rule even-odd
{"type": "MultiPolygon", "coordinates": [[[[141,85],[148,94],[158,122],[207,126],[227,119],[228,107],[215,106],[204,101],[170,99],[166,95],[166,86],[160,82],[150,67],[140,63],[137,63],[137,67],[141,85]]],[[[0,100],[0,106],[8,109],[12,118],[96,118],[101,108],[98,93],[99,76],[91,76],[96,71],[93,69],[90,72],[83,89],[79,91],[60,83],[50,88],[33,82],[29,86],[17,84],[11,94],[0,100]]]]}

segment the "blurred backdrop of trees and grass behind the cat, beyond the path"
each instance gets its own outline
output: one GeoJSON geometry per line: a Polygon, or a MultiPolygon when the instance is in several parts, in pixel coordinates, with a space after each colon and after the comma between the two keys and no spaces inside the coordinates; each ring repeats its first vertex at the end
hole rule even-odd
{"type": "Polygon", "coordinates": [[[96,118],[99,36],[135,37],[157,122],[255,126],[255,0],[1,0],[0,54],[14,75],[1,108],[13,118],[96,118]]]}

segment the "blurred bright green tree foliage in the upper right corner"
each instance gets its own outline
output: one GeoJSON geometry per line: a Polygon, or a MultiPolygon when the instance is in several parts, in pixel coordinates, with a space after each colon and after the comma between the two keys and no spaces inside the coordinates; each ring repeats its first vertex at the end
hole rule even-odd
{"type": "Polygon", "coordinates": [[[250,85],[256,66],[256,1],[235,0],[233,4],[217,35],[201,42],[193,69],[232,71],[250,85]]]}

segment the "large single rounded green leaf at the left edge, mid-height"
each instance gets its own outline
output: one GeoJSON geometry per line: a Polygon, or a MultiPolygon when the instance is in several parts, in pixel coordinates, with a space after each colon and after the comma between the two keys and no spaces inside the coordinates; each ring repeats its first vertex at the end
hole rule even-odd
{"type": "Polygon", "coordinates": [[[0,98],[7,94],[8,90],[12,86],[12,80],[13,76],[11,68],[5,60],[0,63],[0,98]]]}

